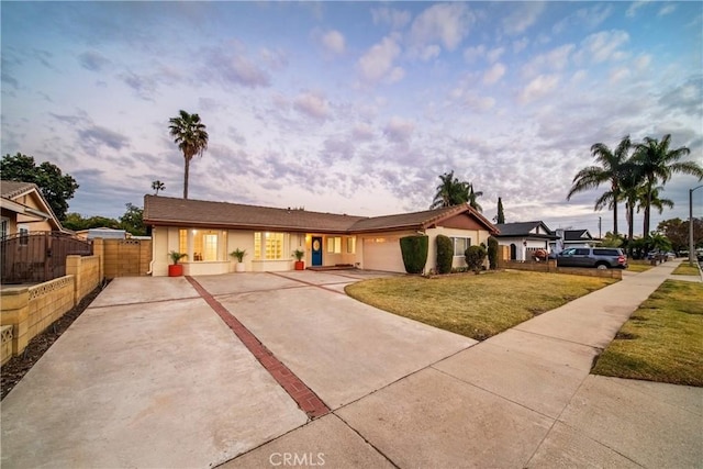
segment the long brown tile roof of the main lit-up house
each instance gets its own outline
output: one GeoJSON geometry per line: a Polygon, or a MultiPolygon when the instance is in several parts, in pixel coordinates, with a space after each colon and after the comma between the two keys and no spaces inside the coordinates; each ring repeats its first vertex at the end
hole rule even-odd
{"type": "Polygon", "coordinates": [[[160,196],[144,197],[144,222],[153,225],[182,224],[326,233],[375,232],[398,228],[421,230],[466,211],[484,224],[487,230],[493,230],[488,220],[468,205],[368,217],[160,196]]]}

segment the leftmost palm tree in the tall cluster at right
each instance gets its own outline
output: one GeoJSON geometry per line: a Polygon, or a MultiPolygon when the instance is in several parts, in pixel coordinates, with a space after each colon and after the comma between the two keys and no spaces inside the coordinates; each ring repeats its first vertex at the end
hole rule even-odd
{"type": "Polygon", "coordinates": [[[622,197],[621,178],[625,172],[627,154],[632,147],[629,135],[623,137],[615,152],[606,145],[596,143],[591,146],[591,154],[600,166],[589,166],[581,169],[573,177],[571,190],[567,194],[567,200],[577,192],[596,189],[602,183],[610,183],[610,190],[603,193],[595,201],[595,210],[604,206],[613,209],[613,234],[617,235],[617,202],[622,197]]]}

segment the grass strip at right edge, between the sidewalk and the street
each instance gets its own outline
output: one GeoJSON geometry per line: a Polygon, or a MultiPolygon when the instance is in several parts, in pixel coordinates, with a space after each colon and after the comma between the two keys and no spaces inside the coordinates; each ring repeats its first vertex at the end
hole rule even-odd
{"type": "Polygon", "coordinates": [[[703,284],[665,281],[623,325],[592,372],[703,387],[703,284]]]}

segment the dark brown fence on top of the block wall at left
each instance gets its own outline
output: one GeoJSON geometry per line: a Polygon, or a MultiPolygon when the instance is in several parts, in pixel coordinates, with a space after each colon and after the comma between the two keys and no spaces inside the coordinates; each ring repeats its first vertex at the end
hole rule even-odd
{"type": "Polygon", "coordinates": [[[30,232],[0,242],[0,281],[38,283],[66,275],[66,256],[92,255],[92,244],[62,232],[30,232]]]}

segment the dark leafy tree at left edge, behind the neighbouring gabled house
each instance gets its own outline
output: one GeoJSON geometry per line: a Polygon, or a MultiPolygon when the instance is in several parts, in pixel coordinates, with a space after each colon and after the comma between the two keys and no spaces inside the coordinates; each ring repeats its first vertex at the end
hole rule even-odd
{"type": "Polygon", "coordinates": [[[68,200],[74,198],[78,189],[76,179],[70,175],[64,175],[58,166],[48,161],[36,166],[34,157],[21,153],[2,157],[0,175],[4,180],[35,183],[60,221],[66,217],[68,200]]]}

